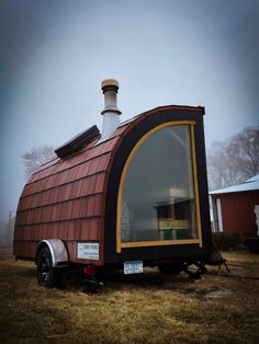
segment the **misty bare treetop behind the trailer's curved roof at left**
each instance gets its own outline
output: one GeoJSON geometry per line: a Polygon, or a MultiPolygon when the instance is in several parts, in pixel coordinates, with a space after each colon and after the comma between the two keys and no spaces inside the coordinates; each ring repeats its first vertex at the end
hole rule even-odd
{"type": "Polygon", "coordinates": [[[26,177],[36,172],[40,167],[55,157],[52,146],[41,146],[26,151],[23,156],[23,163],[25,165],[26,177]]]}

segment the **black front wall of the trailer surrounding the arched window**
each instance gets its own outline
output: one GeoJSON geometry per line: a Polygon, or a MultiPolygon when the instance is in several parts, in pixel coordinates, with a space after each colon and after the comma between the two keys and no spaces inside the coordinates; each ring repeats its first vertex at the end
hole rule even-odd
{"type": "Polygon", "coordinates": [[[211,243],[211,225],[207,197],[206,163],[204,149],[203,114],[201,107],[168,106],[156,108],[135,118],[122,133],[120,149],[114,152],[113,164],[109,176],[109,188],[106,193],[106,217],[105,217],[105,262],[119,263],[127,260],[159,260],[168,257],[182,257],[206,255],[211,243]],[[203,236],[203,248],[198,244],[182,244],[168,246],[127,248],[122,253],[116,253],[116,199],[119,183],[125,161],[133,147],[150,129],[172,121],[195,121],[195,146],[198,157],[198,179],[201,207],[201,225],[203,236]]]}

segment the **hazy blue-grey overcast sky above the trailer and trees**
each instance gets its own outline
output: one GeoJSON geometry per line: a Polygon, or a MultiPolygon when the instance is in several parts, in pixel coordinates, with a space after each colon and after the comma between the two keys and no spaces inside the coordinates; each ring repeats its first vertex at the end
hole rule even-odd
{"type": "Polygon", "coordinates": [[[259,124],[258,0],[0,0],[0,220],[21,156],[97,124],[105,78],[122,121],[204,105],[206,145],[259,124]]]}

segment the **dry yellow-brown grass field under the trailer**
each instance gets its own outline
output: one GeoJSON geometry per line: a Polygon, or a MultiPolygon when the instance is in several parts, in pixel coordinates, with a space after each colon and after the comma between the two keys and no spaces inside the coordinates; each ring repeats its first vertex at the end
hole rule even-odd
{"type": "Polygon", "coordinates": [[[0,343],[259,343],[259,255],[224,256],[230,274],[211,267],[193,280],[156,268],[117,273],[89,295],[77,280],[41,288],[33,263],[5,254],[0,343]]]}

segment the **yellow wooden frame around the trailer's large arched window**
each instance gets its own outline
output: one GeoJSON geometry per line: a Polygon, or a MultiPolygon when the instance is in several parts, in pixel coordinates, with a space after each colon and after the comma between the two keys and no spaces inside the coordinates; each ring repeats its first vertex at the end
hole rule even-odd
{"type": "Polygon", "coordinates": [[[161,125],[156,126],[146,133],[139,141],[133,147],[127,160],[123,167],[122,176],[119,185],[119,195],[117,195],[117,211],[116,211],[116,253],[121,253],[122,249],[126,248],[142,248],[142,246],[162,246],[162,245],[172,245],[172,244],[199,244],[202,246],[202,229],[201,229],[201,216],[200,216],[200,199],[199,199],[199,187],[198,187],[198,172],[196,172],[196,152],[195,152],[195,138],[194,138],[194,121],[173,121],[167,122],[161,125]],[[127,174],[127,170],[131,165],[135,153],[138,151],[139,147],[156,131],[171,126],[181,126],[188,125],[190,127],[190,142],[191,142],[191,158],[192,158],[192,173],[193,173],[193,192],[195,198],[195,216],[196,216],[196,229],[198,238],[196,239],[179,239],[179,240],[157,240],[157,241],[135,241],[135,242],[122,242],[121,238],[121,214],[122,214],[122,197],[123,188],[127,174]]]}

